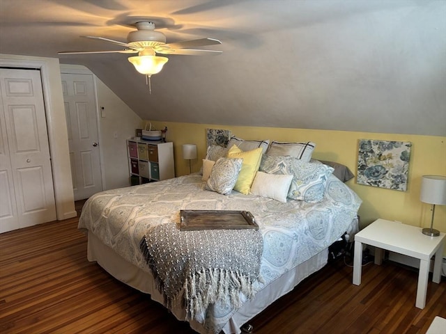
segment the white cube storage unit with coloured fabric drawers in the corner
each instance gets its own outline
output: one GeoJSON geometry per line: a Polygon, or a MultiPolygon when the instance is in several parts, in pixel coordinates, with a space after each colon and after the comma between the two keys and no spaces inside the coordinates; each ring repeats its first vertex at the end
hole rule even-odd
{"type": "Polygon", "coordinates": [[[173,143],[128,139],[127,148],[132,185],[175,177],[173,143]]]}

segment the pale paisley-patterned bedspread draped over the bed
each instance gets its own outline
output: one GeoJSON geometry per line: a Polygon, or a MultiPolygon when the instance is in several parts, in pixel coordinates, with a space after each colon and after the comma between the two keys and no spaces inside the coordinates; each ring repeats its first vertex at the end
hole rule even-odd
{"type": "MultiPolygon", "coordinates": [[[[336,241],[351,225],[360,198],[331,176],[318,203],[243,195],[224,196],[204,190],[201,175],[187,175],[141,186],[103,191],[84,205],[79,228],[89,230],[128,262],[149,271],[139,242],[155,224],[180,222],[180,209],[245,210],[251,212],[263,236],[262,289],[275,278],[336,241]]],[[[236,310],[216,304],[198,321],[218,333],[236,310]]]]}

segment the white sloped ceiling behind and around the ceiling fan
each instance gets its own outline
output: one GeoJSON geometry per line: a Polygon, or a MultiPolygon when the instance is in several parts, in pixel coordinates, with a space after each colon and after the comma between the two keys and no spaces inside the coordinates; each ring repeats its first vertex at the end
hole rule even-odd
{"type": "Polygon", "coordinates": [[[147,120],[446,135],[444,0],[0,0],[0,52],[85,65],[147,120]],[[223,53],[168,56],[152,95],[129,55],[57,54],[141,17],[223,53]]]}

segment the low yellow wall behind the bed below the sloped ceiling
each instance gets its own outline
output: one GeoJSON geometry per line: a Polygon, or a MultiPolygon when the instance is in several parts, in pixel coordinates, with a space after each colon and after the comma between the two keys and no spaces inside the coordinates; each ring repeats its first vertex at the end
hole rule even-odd
{"type": "MultiPolygon", "coordinates": [[[[344,132],[312,129],[284,129],[273,127],[238,127],[228,125],[203,125],[178,122],[152,122],[155,129],[167,126],[167,141],[174,142],[176,176],[189,173],[189,162],[184,160],[181,145],[195,143],[198,159],[192,161],[192,172],[199,171],[201,159],[206,156],[206,129],[229,129],[233,136],[243,139],[270,139],[275,141],[313,141],[314,159],[337,161],[356,174],[357,145],[359,139],[385,141],[410,141],[409,180],[407,191],[395,191],[356,184],[348,186],[363,203],[360,207],[361,227],[376,218],[402,221],[409,225],[429,226],[431,206],[420,202],[421,177],[426,174],[446,175],[446,137],[415,136],[409,134],[376,134],[369,132],[344,132]]],[[[434,227],[446,232],[446,205],[437,205],[434,227]]]]}

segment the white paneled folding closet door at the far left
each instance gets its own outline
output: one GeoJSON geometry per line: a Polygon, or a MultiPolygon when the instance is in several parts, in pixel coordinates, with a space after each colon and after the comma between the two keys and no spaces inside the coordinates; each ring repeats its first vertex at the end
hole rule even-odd
{"type": "Polygon", "coordinates": [[[0,232],[56,220],[39,70],[0,68],[0,232]]]}

